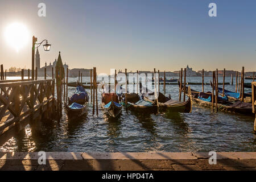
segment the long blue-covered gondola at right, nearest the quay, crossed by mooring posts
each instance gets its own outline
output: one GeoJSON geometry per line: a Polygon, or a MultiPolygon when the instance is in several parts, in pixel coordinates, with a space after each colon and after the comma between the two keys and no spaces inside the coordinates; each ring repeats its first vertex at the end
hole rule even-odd
{"type": "MultiPolygon", "coordinates": [[[[179,82],[178,82],[179,84],[179,82]]],[[[179,84],[180,86],[180,84],[179,84]]],[[[184,92],[184,88],[182,85],[181,91],[184,92]]],[[[188,94],[188,87],[185,88],[185,93],[188,94]]],[[[212,107],[212,93],[207,92],[197,92],[196,90],[191,89],[192,101],[194,104],[204,106],[204,107],[212,107]]],[[[215,97],[213,97],[213,100],[215,97]]],[[[215,104],[214,104],[215,107],[215,104]]],[[[250,103],[236,101],[231,102],[226,97],[218,97],[218,110],[225,111],[228,113],[240,113],[240,114],[253,114],[252,107],[250,103]]]]}

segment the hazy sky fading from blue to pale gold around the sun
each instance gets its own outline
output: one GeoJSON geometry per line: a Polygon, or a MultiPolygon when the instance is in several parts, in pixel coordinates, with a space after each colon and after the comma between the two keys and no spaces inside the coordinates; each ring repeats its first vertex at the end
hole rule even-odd
{"type": "Polygon", "coordinates": [[[0,63],[31,67],[32,36],[48,39],[51,51],[39,48],[41,66],[61,51],[69,68],[97,67],[129,71],[256,69],[256,1],[176,0],[0,0],[0,63]],[[38,4],[46,3],[46,17],[38,4]],[[217,17],[208,5],[217,4],[217,17]],[[8,46],[5,28],[23,23],[30,32],[26,46],[8,46]]]}

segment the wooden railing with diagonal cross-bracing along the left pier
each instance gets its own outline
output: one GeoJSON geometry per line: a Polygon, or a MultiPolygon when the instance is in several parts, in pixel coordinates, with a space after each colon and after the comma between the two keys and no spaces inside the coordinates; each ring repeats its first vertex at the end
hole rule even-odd
{"type": "Polygon", "coordinates": [[[54,99],[55,80],[0,83],[0,134],[54,99]]]}

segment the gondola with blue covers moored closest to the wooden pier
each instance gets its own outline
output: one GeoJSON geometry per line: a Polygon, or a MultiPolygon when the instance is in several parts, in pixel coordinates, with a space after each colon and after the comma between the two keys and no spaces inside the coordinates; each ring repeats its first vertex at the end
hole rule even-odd
{"type": "Polygon", "coordinates": [[[69,98],[68,103],[64,100],[65,112],[68,119],[73,120],[84,114],[85,103],[88,102],[89,96],[85,89],[77,82],[75,93],[69,98]]]}

